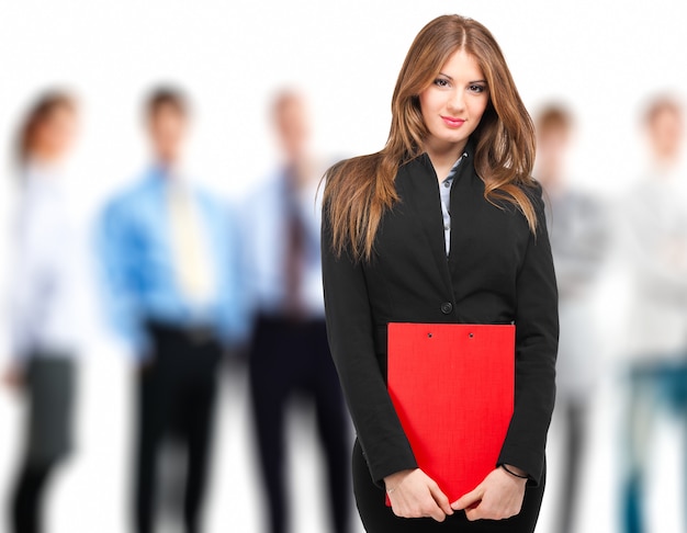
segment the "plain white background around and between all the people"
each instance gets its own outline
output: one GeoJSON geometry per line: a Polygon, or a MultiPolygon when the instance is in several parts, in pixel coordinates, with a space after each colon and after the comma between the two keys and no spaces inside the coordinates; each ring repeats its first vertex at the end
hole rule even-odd
{"type": "MultiPolygon", "coordinates": [[[[274,165],[267,120],[274,90],[290,86],[308,95],[323,154],[375,151],[386,138],[391,93],[413,37],[426,22],[450,12],[492,30],[530,110],[556,100],[575,112],[572,175],[604,194],[623,190],[641,171],[637,126],[645,99],[665,90],[687,94],[687,8],[678,0],[8,1],[0,9],[2,249],[13,192],[10,146],[37,91],[58,84],[80,97],[83,120],[74,175],[87,219],[146,163],[139,106],[160,81],[178,83],[193,100],[189,167],[199,180],[240,201],[274,165]]],[[[7,261],[0,261],[2,286],[11,283],[7,271],[7,261]]],[[[93,322],[83,326],[93,333],[81,379],[79,451],[56,483],[49,506],[49,523],[58,533],[126,531],[131,368],[93,322]]],[[[0,331],[4,351],[3,321],[0,331]]],[[[244,383],[234,376],[226,385],[209,531],[252,533],[267,510],[248,452],[244,383]]],[[[602,385],[585,477],[579,529],[585,532],[616,528],[619,399],[610,377],[602,385]]],[[[15,461],[19,406],[10,394],[0,394],[0,498],[15,461]]],[[[313,512],[324,502],[307,422],[296,420],[292,446],[297,533],[325,531],[319,511],[313,512]]],[[[655,531],[662,532],[682,531],[678,473],[686,470],[676,466],[682,464],[680,440],[671,431],[666,423],[655,455],[663,458],[656,462],[654,497],[662,511],[654,513],[655,531]]],[[[550,496],[556,491],[559,436],[554,428],[550,496]]],[[[549,531],[553,513],[545,504],[540,531],[549,531]]]]}

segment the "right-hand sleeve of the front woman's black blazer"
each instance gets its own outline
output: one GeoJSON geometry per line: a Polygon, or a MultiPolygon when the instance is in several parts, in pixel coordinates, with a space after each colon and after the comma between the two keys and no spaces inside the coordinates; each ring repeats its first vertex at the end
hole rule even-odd
{"type": "Polygon", "coordinates": [[[559,314],[541,189],[533,201],[538,230],[530,233],[516,285],[515,411],[498,464],[522,468],[539,484],[555,399],[559,314]]]}

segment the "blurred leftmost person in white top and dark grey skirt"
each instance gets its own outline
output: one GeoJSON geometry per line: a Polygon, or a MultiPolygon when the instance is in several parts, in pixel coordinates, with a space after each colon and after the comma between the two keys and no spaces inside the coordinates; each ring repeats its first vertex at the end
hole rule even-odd
{"type": "Polygon", "coordinates": [[[18,136],[21,192],[11,252],[11,363],[4,375],[27,404],[25,445],[11,501],[15,533],[44,531],[45,488],[72,445],[76,360],[83,340],[77,297],[82,250],[63,172],[77,114],[70,94],[46,92],[18,136]]]}

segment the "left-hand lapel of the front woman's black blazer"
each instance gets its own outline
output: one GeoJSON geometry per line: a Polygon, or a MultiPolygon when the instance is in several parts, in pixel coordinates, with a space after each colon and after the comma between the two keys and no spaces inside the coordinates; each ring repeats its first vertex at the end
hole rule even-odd
{"type": "Polygon", "coordinates": [[[437,173],[427,154],[423,154],[407,163],[406,171],[409,179],[407,180],[408,193],[404,195],[404,203],[415,211],[441,281],[447,290],[451,291],[450,294],[453,294],[449,261],[446,254],[443,216],[437,173]]]}

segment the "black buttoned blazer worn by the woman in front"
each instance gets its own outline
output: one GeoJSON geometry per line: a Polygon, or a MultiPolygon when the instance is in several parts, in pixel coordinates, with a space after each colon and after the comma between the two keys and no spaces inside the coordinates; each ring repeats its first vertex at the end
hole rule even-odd
{"type": "MultiPolygon", "coordinates": [[[[516,397],[498,464],[541,479],[555,396],[558,293],[541,189],[533,236],[511,204],[484,199],[473,152],[451,190],[447,259],[437,174],[427,155],[403,166],[370,262],[337,258],[323,217],[327,331],[372,479],[417,466],[386,390],[388,322],[516,324],[516,397]]],[[[488,385],[488,384],[485,384],[488,385]]],[[[460,383],[455,384],[457,388],[460,383]]],[[[495,467],[497,465],[494,465],[495,467]]]]}

